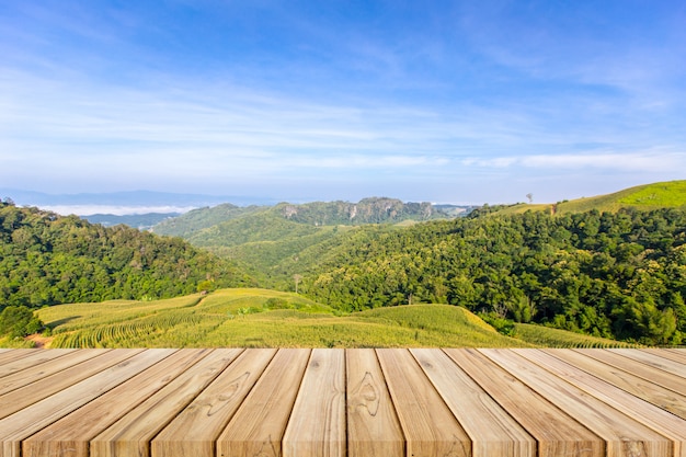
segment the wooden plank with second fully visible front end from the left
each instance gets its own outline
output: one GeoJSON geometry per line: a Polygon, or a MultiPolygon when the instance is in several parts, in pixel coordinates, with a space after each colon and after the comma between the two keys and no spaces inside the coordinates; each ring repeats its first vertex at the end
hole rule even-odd
{"type": "Polygon", "coordinates": [[[91,439],[91,456],[150,455],[150,441],[242,352],[214,350],[91,439]]]}

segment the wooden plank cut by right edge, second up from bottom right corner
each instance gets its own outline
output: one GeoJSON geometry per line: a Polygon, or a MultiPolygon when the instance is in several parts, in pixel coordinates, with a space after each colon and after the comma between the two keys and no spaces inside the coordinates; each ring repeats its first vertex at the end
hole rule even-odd
{"type": "Polygon", "coordinates": [[[686,396],[682,396],[673,390],[590,357],[587,356],[588,352],[579,353],[569,350],[546,350],[546,353],[574,365],[638,398],[656,404],[663,410],[670,411],[672,414],[686,419],[686,396]]]}

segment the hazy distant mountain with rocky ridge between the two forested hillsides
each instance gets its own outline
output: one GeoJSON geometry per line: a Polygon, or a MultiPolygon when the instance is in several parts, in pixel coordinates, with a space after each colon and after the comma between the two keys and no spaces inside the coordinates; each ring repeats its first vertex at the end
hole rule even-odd
{"type": "Polygon", "coordinates": [[[447,205],[437,209],[430,203],[385,197],[244,208],[225,204],[164,220],[152,231],[183,237],[196,247],[239,262],[263,284],[283,287],[288,278],[284,272],[290,271],[306,252],[323,253],[346,243],[362,227],[396,230],[400,225],[451,219],[448,210],[456,208],[447,205]]]}

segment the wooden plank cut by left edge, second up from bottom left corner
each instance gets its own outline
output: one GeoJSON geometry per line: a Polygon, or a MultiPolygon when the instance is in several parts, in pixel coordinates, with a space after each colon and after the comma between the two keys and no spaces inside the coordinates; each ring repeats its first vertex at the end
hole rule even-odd
{"type": "MultiPolygon", "coordinates": [[[[102,350],[101,350],[102,351],[102,350]]],[[[134,357],[142,350],[112,350],[71,368],[47,376],[36,382],[12,390],[0,397],[0,419],[21,411],[52,395],[58,393],[69,386],[80,382],[104,369],[134,357]]]]}

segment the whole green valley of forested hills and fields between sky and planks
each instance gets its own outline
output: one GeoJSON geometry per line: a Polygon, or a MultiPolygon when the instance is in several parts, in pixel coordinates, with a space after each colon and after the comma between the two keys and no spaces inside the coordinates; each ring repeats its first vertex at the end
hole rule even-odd
{"type": "Polygon", "coordinates": [[[34,310],[59,347],[679,345],[684,183],[460,217],[222,204],[152,233],[2,203],[0,311],[34,310]]]}

